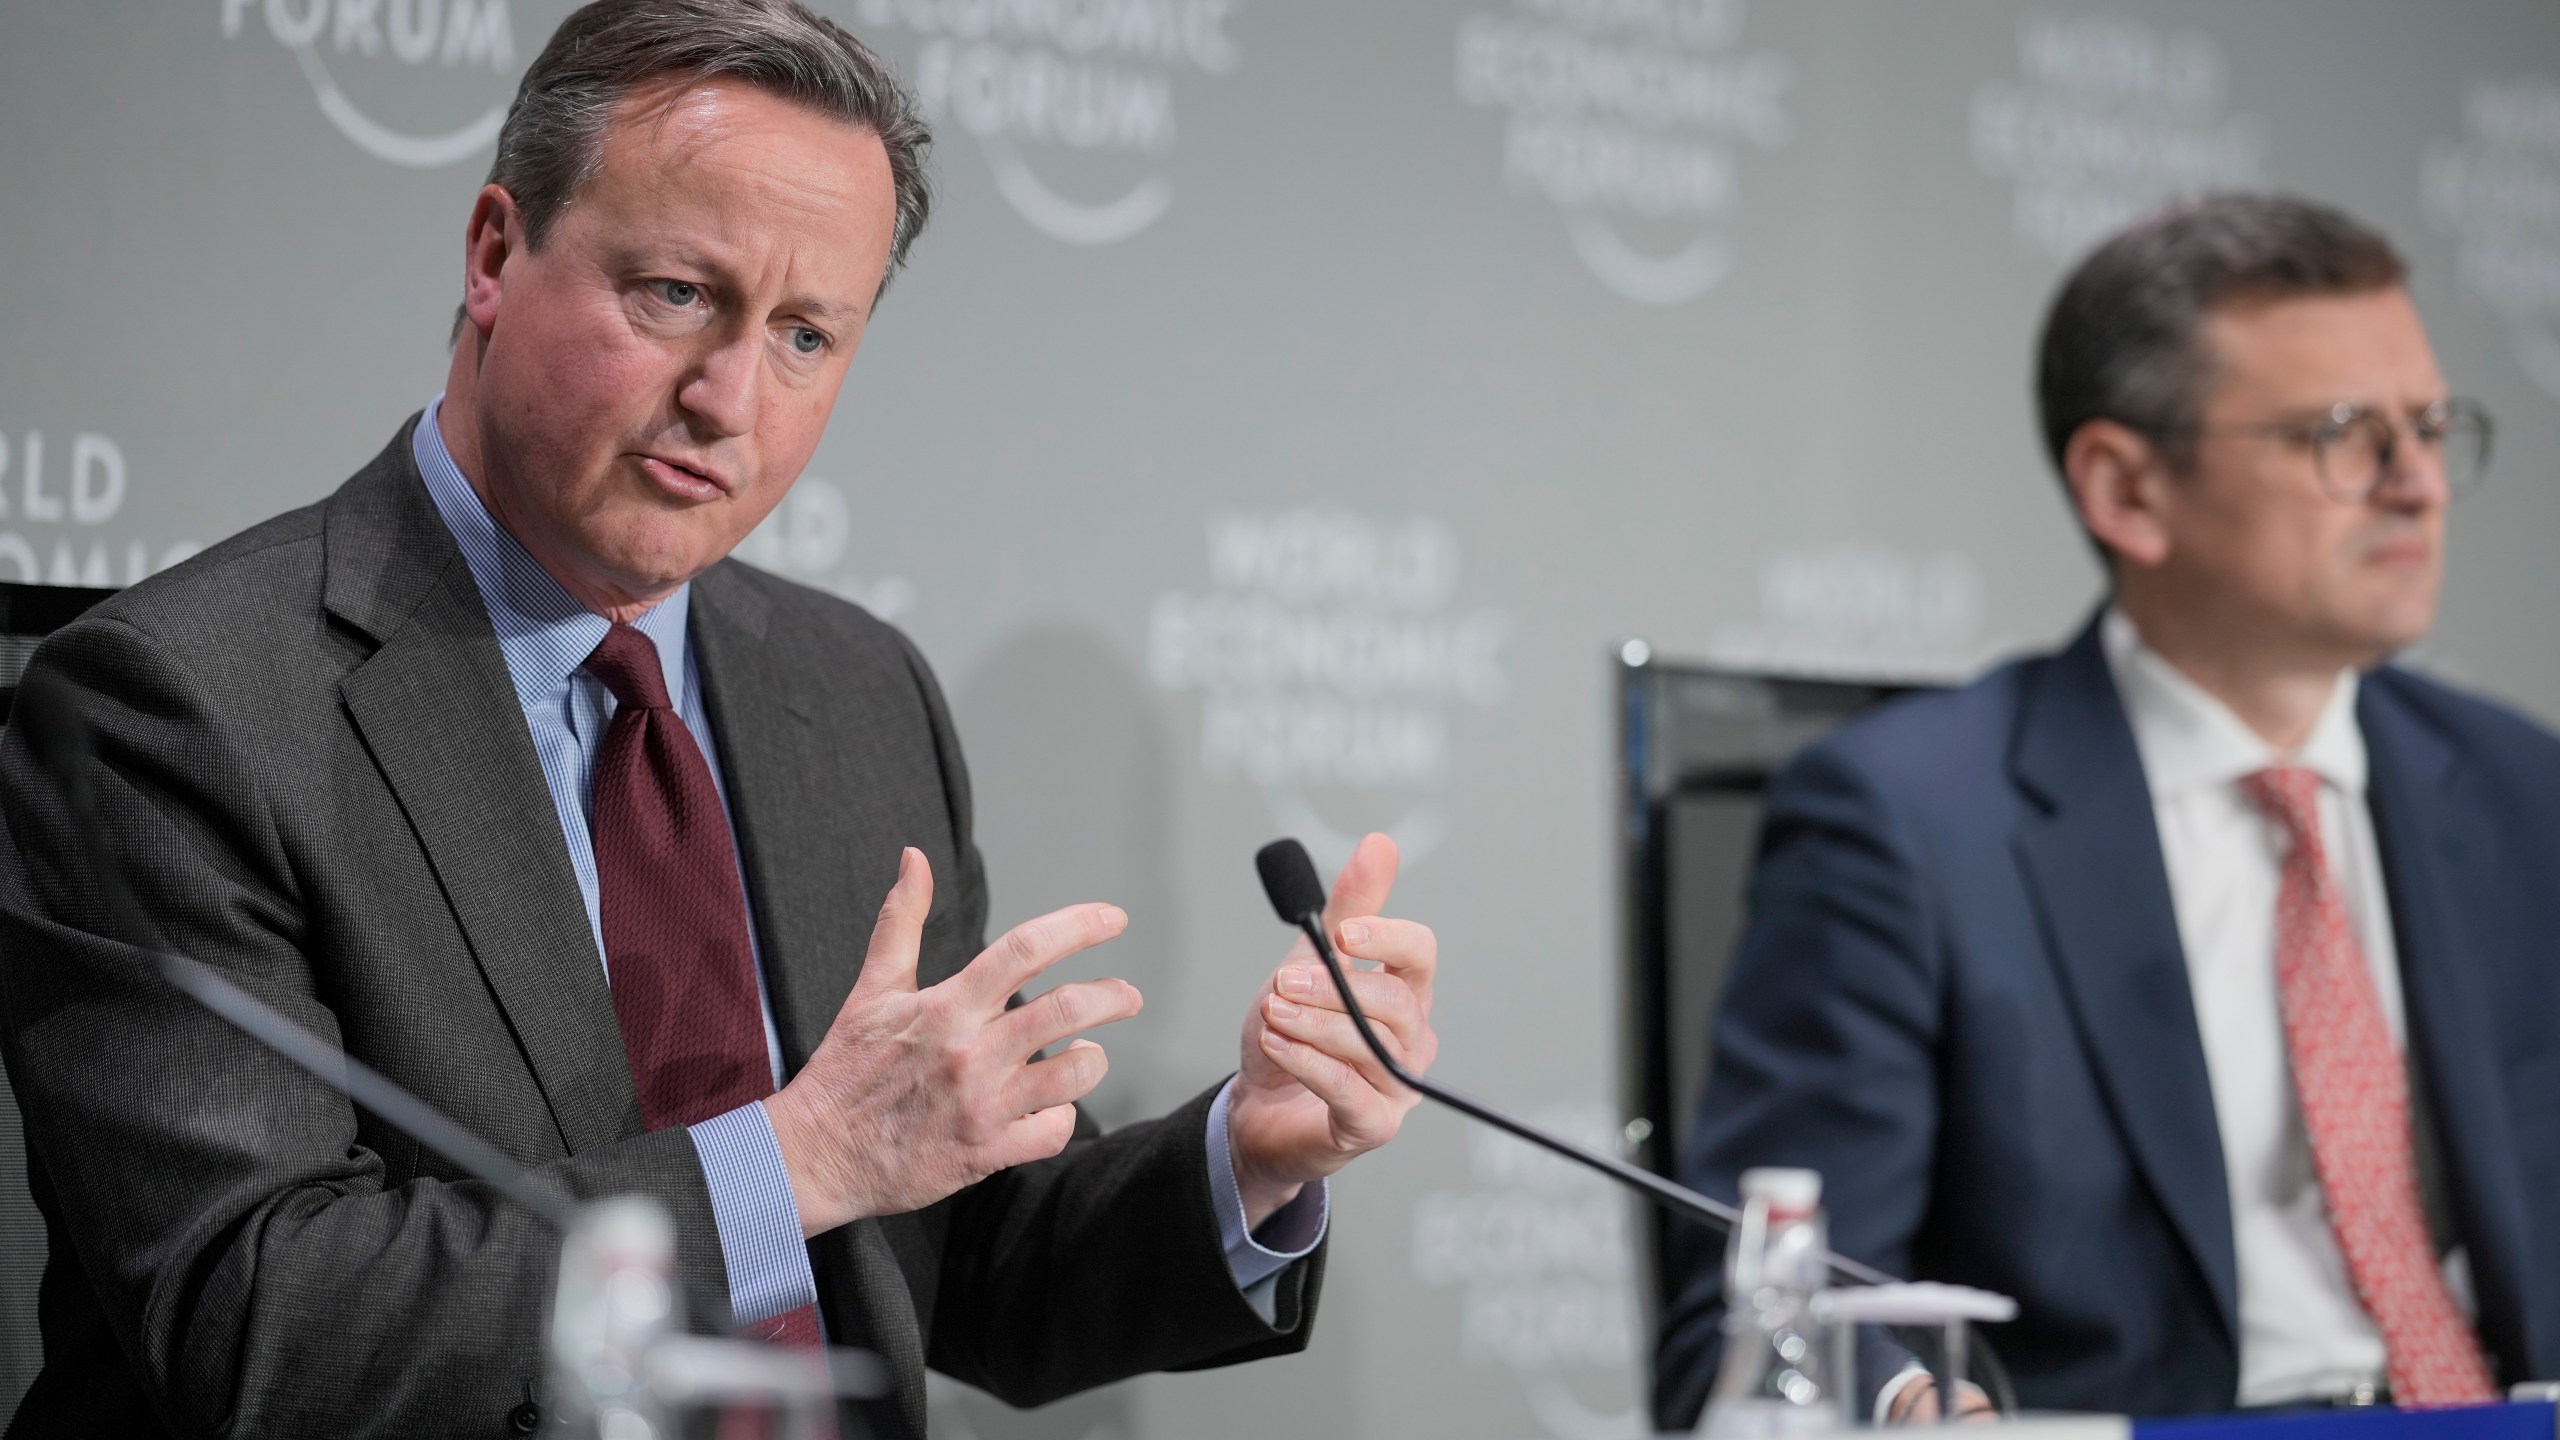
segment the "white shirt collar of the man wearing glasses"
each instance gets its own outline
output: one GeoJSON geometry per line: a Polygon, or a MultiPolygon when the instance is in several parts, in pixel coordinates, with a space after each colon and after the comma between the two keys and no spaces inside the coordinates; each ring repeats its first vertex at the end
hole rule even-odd
{"type": "Polygon", "coordinates": [[[2107,651],[2107,669],[2115,674],[2115,689],[2125,700],[2125,717],[2132,723],[2132,743],[2143,753],[2143,779],[2150,781],[2153,797],[2171,799],[2214,789],[2276,764],[2304,766],[2348,797],[2365,792],[2365,735],[2355,728],[2355,669],[2337,671],[2337,687],[2330,689],[2330,702],[2319,710],[2309,738],[2289,756],[2232,715],[2230,705],[2214,700],[2166,656],[2145,646],[2143,633],[2115,605],[2099,620],[2099,643],[2107,651]]]}

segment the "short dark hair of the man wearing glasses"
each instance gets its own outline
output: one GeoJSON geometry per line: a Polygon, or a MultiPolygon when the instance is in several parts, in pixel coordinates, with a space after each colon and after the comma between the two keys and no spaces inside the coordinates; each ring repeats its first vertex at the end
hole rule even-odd
{"type": "Polygon", "coordinates": [[[2035,410],[2056,474],[2089,420],[2117,420],[2194,461],[2214,361],[2199,331],[2225,305],[2360,295],[2401,284],[2391,241],[2289,195],[2202,195],[2156,210],[2089,254],[2045,313],[2035,410]]]}

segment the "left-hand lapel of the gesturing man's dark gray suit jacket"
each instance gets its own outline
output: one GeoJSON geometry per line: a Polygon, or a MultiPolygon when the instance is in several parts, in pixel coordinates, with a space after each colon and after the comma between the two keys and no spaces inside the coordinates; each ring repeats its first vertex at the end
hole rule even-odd
{"type": "Polygon", "coordinates": [[[640,1133],[612,992],[471,569],[428,502],[410,430],[328,512],[325,605],[381,648],[338,692],[417,830],[561,1140],[640,1133]]]}

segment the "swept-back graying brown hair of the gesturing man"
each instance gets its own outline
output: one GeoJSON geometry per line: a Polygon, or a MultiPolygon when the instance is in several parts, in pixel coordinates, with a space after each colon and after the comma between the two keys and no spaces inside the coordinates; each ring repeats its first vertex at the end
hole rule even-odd
{"type": "Polygon", "coordinates": [[[737,79],[878,136],[899,202],[881,274],[888,290],[932,213],[932,131],[870,46],[799,0],[594,0],[561,20],[515,87],[489,164],[489,184],[515,195],[527,246],[543,249],[604,164],[622,100],[653,79],[737,79]]]}

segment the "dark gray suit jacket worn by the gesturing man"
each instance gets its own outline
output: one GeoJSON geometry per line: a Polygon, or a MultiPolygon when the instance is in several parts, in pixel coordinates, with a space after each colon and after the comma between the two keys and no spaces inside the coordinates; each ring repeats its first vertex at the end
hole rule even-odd
{"type": "MultiPolygon", "coordinates": [[[[412,418],[415,425],[415,418],[412,418]]],[[[694,648],[786,1066],[852,986],[899,846],[922,979],[983,945],[968,774],[914,646],[724,561],[694,648]]],[[[604,971],[507,664],[410,461],[105,602],[36,656],[97,733],[110,843],[166,943],[576,1197],[637,1191],[724,1297],[684,1130],[640,1130],[604,971]]],[[[540,1391],[556,1235],[164,989],[108,930],[51,779],[0,743],[0,1056],[51,1235],[46,1368],[10,1435],[502,1435],[540,1391]]],[[[840,1343],[1037,1404],[1306,1345],[1226,1273],[1211,1094],[812,1245],[840,1343]]]]}

